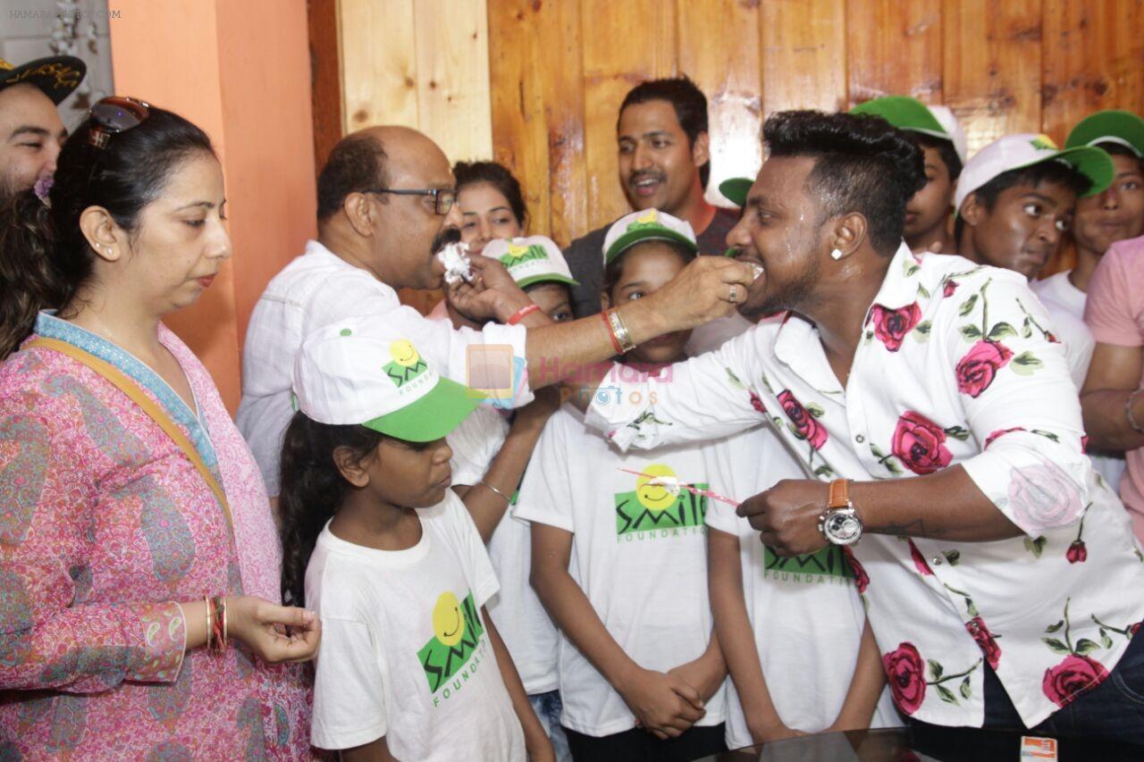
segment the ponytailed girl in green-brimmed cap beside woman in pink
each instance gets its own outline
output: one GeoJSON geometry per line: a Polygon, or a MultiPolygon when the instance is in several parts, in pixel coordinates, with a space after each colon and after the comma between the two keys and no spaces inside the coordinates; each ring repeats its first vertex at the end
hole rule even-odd
{"type": "Polygon", "coordinates": [[[312,743],[342,759],[551,760],[485,603],[495,573],[450,490],[478,396],[383,319],[311,334],[283,444],[283,594],[324,622],[312,743]]]}

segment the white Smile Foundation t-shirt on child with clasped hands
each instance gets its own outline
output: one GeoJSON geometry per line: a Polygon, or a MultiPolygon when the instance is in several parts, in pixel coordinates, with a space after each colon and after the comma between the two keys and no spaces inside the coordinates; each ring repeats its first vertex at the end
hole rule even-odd
{"type": "MultiPolygon", "coordinates": [[[[707,499],[656,486],[637,494],[639,477],[620,468],[707,482],[698,445],[623,455],[565,405],[537,444],[514,516],[573,533],[569,572],[609,634],[641,667],[667,672],[698,659],[710,641],[707,499]]],[[[563,725],[596,737],[635,727],[620,694],[563,633],[559,686],[563,725]]],[[[717,725],[723,715],[721,688],[697,724],[717,725]]]]}

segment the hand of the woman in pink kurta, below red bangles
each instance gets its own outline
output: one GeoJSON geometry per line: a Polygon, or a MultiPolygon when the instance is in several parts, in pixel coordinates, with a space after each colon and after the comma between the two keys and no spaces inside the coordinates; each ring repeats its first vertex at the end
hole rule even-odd
{"type": "Polygon", "coordinates": [[[227,598],[227,628],[268,664],[309,661],[321,640],[321,624],[312,611],[252,595],[227,598]]]}

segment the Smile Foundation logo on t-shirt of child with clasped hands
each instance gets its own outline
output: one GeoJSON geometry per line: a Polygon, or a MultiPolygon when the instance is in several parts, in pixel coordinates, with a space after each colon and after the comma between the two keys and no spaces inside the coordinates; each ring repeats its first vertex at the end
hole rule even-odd
{"type": "MultiPolygon", "coordinates": [[[[686,490],[673,490],[680,484],[675,470],[664,463],[650,463],[636,477],[634,492],[615,497],[615,534],[619,539],[677,537],[701,531],[707,515],[707,498],[686,490]],[[688,530],[691,530],[690,532],[688,530]],[[642,537],[648,533],[646,537],[642,537]]],[[[706,490],[707,484],[692,484],[706,490]]]]}

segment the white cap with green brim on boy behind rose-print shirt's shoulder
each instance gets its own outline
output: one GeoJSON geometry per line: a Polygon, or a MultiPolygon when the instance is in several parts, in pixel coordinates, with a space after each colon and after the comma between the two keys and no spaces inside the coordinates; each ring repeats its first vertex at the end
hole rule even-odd
{"type": "Polygon", "coordinates": [[[1112,182],[1115,168],[1107,153],[1089,145],[1059,149],[1048,135],[1022,133],[1006,135],[993,141],[974,154],[961,177],[953,197],[953,206],[959,212],[966,198],[998,175],[1012,169],[1024,169],[1042,161],[1060,161],[1088,177],[1093,185],[1082,196],[1099,193],[1112,182]]]}

